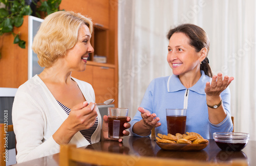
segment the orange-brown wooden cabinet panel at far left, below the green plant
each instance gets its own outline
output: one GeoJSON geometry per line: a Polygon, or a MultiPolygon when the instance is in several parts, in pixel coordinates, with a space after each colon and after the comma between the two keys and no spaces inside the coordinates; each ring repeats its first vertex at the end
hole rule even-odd
{"type": "Polygon", "coordinates": [[[11,33],[0,37],[0,87],[18,88],[28,80],[28,16],[22,26],[14,27],[14,33],[19,32],[20,39],[26,41],[25,49],[13,44],[11,33]]]}

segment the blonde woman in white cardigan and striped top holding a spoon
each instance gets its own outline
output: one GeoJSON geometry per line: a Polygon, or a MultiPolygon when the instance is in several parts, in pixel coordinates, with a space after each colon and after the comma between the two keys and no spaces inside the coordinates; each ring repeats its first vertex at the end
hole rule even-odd
{"type": "Polygon", "coordinates": [[[61,144],[114,140],[108,137],[108,117],[101,121],[92,86],[71,76],[86,69],[94,51],[92,31],[91,19],[74,12],[55,12],[41,23],[32,49],[45,69],[19,87],[13,103],[18,163],[58,153],[61,144]]]}

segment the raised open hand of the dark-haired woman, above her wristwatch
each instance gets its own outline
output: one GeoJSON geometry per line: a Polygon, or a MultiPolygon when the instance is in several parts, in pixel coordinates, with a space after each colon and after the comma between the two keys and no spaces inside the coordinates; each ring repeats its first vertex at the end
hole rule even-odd
{"type": "Polygon", "coordinates": [[[222,79],[222,73],[218,73],[218,76],[212,76],[211,84],[210,82],[206,82],[204,91],[209,97],[219,97],[221,92],[229,86],[233,79],[234,77],[227,75],[222,79]]]}

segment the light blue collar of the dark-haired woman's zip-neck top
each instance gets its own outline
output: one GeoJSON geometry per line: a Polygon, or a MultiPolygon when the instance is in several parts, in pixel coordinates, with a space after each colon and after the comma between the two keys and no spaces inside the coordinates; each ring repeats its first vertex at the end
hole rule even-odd
{"type": "MultiPolygon", "coordinates": [[[[205,95],[204,88],[207,81],[211,81],[210,77],[204,74],[204,71],[201,70],[201,77],[197,83],[188,88],[190,91],[205,95]]],[[[177,75],[170,75],[167,81],[167,91],[168,92],[177,92],[185,90],[186,88],[181,84],[181,81],[177,75]]]]}

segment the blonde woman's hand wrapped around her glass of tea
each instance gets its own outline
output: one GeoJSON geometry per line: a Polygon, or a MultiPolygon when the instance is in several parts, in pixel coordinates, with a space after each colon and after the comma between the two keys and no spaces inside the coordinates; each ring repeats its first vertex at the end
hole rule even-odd
{"type": "MultiPolygon", "coordinates": [[[[130,122],[131,121],[131,118],[130,117],[127,117],[126,119],[127,122],[130,122]]],[[[131,127],[131,124],[130,123],[124,123],[123,126],[128,129],[131,127]]],[[[109,118],[108,116],[104,115],[103,116],[103,123],[102,123],[102,136],[103,136],[103,139],[104,140],[114,140],[114,141],[118,141],[118,142],[122,142],[123,139],[112,139],[109,137],[109,118]]],[[[127,136],[130,134],[129,131],[126,131],[126,130],[123,130],[123,134],[124,136],[127,136]]],[[[101,139],[102,139],[102,136],[101,136],[101,139]]]]}

